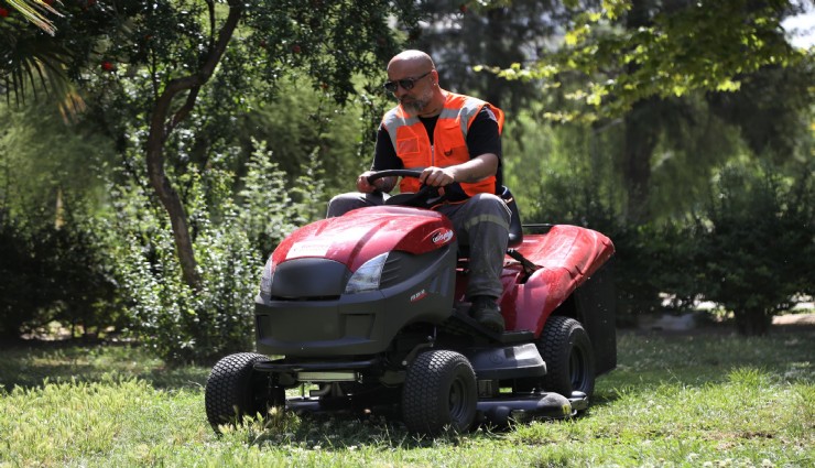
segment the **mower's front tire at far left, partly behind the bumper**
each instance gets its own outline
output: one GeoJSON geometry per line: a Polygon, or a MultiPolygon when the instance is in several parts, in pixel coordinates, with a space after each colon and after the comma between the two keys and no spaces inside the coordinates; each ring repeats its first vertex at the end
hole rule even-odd
{"type": "Polygon", "coordinates": [[[239,352],[218,361],[207,379],[204,403],[207,420],[216,434],[221,424],[240,424],[243,416],[264,415],[269,406],[285,404],[282,388],[270,390],[269,374],[254,372],[265,356],[239,352]]]}

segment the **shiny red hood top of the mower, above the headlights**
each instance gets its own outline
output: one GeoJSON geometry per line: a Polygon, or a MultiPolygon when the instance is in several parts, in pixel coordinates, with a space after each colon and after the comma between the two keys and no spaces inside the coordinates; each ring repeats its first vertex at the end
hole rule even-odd
{"type": "Polygon", "coordinates": [[[401,250],[420,254],[455,239],[445,216],[427,209],[378,206],[355,209],[295,230],[278,246],[274,263],[301,258],[330,259],[356,271],[366,261],[401,250]]]}

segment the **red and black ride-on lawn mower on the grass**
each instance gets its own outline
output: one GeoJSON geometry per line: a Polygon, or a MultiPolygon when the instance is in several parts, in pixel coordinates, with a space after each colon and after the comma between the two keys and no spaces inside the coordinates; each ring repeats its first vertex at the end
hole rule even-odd
{"type": "MultiPolygon", "coordinates": [[[[419,172],[370,179],[393,175],[419,172]]],[[[468,253],[449,219],[416,207],[436,196],[394,195],[278,246],[256,298],[258,352],[225,357],[206,384],[216,432],[272,407],[388,410],[428,435],[587,409],[595,378],[617,364],[613,291],[600,270],[611,241],[575,226],[522,227],[504,191],[507,331],[497,334],[467,314],[468,253]],[[295,387],[301,395],[287,398],[295,387]]]]}

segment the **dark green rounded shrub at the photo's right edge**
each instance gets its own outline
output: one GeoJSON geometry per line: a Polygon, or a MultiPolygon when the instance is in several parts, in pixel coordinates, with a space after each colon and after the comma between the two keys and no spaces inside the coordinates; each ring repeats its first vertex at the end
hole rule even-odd
{"type": "Polygon", "coordinates": [[[697,228],[699,291],[734,312],[740,333],[762,335],[796,294],[814,292],[812,172],[791,185],[769,168],[730,166],[717,188],[709,225],[697,228]]]}

